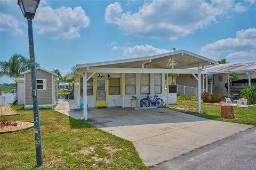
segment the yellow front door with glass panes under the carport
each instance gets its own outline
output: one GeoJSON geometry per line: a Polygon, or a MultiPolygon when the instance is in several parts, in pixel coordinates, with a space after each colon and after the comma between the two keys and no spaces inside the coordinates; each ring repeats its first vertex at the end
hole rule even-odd
{"type": "Polygon", "coordinates": [[[95,107],[108,106],[107,101],[107,79],[95,79],[95,107]]]}

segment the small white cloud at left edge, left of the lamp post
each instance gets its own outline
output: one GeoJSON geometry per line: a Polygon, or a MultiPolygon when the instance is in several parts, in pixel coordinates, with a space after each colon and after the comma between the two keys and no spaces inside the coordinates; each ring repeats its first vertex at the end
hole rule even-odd
{"type": "Polygon", "coordinates": [[[0,31],[9,31],[12,35],[22,33],[19,21],[10,14],[0,14],[0,31]]]}

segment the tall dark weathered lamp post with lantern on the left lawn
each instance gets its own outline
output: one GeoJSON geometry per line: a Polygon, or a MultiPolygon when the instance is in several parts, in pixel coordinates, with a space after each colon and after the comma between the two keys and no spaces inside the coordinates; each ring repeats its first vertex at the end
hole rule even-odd
{"type": "Polygon", "coordinates": [[[33,111],[34,111],[36,163],[38,166],[43,164],[43,159],[42,159],[42,141],[41,141],[40,120],[39,120],[38,97],[37,97],[36,66],[35,66],[32,20],[34,19],[36,8],[38,7],[39,2],[40,0],[18,0],[18,5],[20,6],[21,12],[23,16],[28,20],[28,43],[29,43],[31,88],[32,88],[33,111]]]}

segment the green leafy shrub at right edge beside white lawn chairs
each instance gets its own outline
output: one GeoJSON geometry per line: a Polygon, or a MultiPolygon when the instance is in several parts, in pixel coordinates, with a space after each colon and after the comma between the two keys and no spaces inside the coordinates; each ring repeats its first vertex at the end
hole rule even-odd
{"type": "Polygon", "coordinates": [[[256,104],[256,86],[241,90],[239,97],[247,99],[248,105],[256,104]]]}

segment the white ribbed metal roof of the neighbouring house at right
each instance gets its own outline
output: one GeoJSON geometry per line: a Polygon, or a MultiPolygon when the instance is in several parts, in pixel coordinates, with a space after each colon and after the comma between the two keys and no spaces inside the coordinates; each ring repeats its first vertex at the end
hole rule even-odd
{"type": "Polygon", "coordinates": [[[201,74],[256,72],[256,61],[217,64],[206,67],[201,74]]]}

